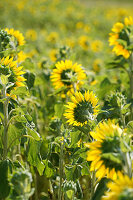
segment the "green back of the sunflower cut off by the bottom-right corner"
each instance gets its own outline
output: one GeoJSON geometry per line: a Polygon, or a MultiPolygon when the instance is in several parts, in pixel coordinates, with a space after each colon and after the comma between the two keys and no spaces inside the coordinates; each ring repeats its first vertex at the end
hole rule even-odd
{"type": "Polygon", "coordinates": [[[133,200],[133,188],[126,188],[120,194],[119,200],[133,200]]]}

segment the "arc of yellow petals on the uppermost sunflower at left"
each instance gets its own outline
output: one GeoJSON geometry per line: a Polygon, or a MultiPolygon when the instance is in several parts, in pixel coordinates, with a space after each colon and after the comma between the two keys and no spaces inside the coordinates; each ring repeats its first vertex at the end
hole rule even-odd
{"type": "Polygon", "coordinates": [[[17,46],[22,46],[25,44],[24,36],[18,30],[6,28],[5,31],[16,39],[17,46]]]}

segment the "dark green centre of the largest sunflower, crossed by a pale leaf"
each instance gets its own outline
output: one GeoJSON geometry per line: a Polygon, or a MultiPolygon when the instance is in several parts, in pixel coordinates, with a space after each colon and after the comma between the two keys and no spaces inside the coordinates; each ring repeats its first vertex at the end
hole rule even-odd
{"type": "Polygon", "coordinates": [[[120,139],[115,136],[114,138],[107,138],[101,146],[102,156],[106,168],[110,170],[115,168],[116,171],[122,170],[122,156],[120,154],[120,139]]]}

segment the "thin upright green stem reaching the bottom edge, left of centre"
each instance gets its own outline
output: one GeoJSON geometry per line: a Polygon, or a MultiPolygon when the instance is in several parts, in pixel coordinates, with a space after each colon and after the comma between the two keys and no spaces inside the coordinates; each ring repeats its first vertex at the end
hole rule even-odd
{"type": "Polygon", "coordinates": [[[59,200],[62,200],[62,179],[63,179],[63,141],[60,146],[60,161],[59,161],[59,173],[60,173],[60,184],[59,184],[59,200]]]}

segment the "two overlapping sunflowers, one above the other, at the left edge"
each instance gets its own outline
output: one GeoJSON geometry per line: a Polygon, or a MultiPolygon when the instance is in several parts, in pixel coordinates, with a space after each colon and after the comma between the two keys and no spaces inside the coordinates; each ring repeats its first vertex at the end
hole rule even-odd
{"type": "MultiPolygon", "coordinates": [[[[7,77],[5,84],[10,84],[6,90],[6,95],[10,96],[11,90],[15,90],[17,87],[25,87],[25,78],[22,76],[24,71],[21,66],[21,59],[19,55],[22,51],[19,51],[19,46],[25,44],[24,37],[19,31],[14,29],[8,29],[0,31],[1,37],[1,60],[0,60],[0,75],[1,84],[3,84],[3,76],[7,77]],[[10,52],[10,53],[8,53],[10,52]],[[8,55],[8,56],[5,56],[8,55]]],[[[16,96],[11,96],[16,97],[16,96]]]]}

